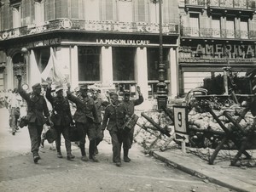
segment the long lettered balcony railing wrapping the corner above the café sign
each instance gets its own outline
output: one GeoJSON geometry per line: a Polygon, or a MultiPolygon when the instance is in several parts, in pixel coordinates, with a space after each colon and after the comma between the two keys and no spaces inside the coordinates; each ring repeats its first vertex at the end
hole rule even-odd
{"type": "MultiPolygon", "coordinates": [[[[47,21],[43,25],[26,25],[0,31],[0,41],[49,31],[88,31],[108,34],[159,34],[160,32],[157,23],[59,19],[47,21]]],[[[177,24],[163,24],[162,31],[166,36],[179,35],[177,24]]]]}

